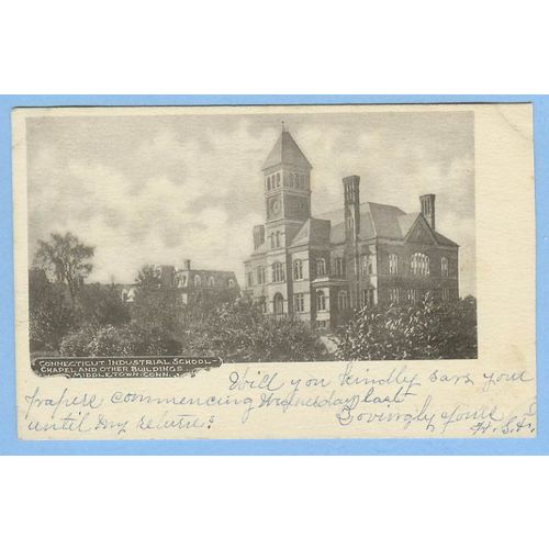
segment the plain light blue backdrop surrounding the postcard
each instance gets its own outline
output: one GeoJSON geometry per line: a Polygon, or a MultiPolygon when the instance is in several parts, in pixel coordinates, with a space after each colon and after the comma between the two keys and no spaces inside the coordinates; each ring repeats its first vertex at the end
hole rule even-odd
{"type": "Polygon", "coordinates": [[[549,96],[0,96],[0,453],[4,455],[547,455],[549,453],[549,96]],[[535,439],[23,441],[15,425],[11,109],[55,105],[531,102],[536,176],[535,439]]]}

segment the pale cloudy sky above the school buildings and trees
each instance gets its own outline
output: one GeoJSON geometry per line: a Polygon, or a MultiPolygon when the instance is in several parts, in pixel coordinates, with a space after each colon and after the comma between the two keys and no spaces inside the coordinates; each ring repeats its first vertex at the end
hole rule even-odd
{"type": "Polygon", "coordinates": [[[31,258],[38,239],[70,231],[96,246],[90,280],[128,283],[145,264],[189,258],[242,284],[265,221],[261,166],[284,121],[313,165],[314,216],[343,206],[348,175],[360,176],[362,202],[406,212],[435,193],[437,231],[460,245],[460,293],[474,294],[471,111],[183,111],[27,119],[31,258]]]}

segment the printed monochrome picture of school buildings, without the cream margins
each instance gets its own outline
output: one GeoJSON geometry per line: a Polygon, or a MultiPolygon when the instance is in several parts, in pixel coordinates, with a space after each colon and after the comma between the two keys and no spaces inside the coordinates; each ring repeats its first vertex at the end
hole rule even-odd
{"type": "Polygon", "coordinates": [[[33,359],[478,357],[466,105],[54,110],[25,130],[33,359]]]}

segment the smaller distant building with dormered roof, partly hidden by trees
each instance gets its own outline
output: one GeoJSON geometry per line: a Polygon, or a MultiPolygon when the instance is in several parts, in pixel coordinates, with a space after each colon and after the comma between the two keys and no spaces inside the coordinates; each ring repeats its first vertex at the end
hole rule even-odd
{"type": "MultiPolygon", "coordinates": [[[[175,290],[182,305],[193,303],[203,295],[237,296],[240,288],[233,271],[192,269],[190,259],[183,261],[182,268],[172,265],[155,266],[158,285],[164,289],[175,290]]],[[[135,300],[137,284],[123,287],[122,301],[132,303],[135,300]]]]}

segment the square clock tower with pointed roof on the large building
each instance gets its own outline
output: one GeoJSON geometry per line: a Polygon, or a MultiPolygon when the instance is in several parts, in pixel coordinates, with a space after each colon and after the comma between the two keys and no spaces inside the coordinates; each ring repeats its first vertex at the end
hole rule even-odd
{"type": "Polygon", "coordinates": [[[311,217],[312,168],[290,132],[282,126],[282,133],[262,167],[266,236],[271,249],[289,245],[311,217]]]}

